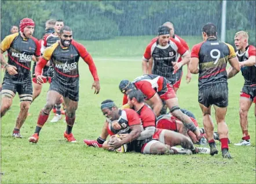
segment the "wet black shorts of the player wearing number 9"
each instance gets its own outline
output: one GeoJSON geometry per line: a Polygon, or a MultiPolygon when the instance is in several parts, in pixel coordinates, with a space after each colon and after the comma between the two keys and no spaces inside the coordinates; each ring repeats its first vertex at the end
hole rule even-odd
{"type": "Polygon", "coordinates": [[[205,107],[213,104],[218,107],[228,107],[228,84],[221,82],[199,89],[198,102],[205,107]]]}

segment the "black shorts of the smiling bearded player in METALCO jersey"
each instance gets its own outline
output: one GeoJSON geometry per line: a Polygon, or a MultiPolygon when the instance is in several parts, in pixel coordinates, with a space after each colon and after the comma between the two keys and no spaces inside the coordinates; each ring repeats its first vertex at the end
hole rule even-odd
{"type": "Polygon", "coordinates": [[[78,102],[79,100],[79,78],[72,84],[62,84],[60,81],[52,78],[49,91],[56,91],[68,99],[78,102]]]}

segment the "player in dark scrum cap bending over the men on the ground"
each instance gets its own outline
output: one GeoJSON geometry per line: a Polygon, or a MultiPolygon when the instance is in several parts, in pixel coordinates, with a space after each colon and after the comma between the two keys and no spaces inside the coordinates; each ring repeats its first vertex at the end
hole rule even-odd
{"type": "MultiPolygon", "coordinates": [[[[132,82],[129,80],[122,80],[119,84],[119,89],[124,94],[124,103],[127,103],[127,101],[125,102],[125,99],[127,99],[127,92],[131,91],[131,89],[140,89],[144,94],[145,99],[149,101],[147,103],[152,104],[153,111],[157,116],[159,116],[159,112],[163,106],[162,100],[164,100],[167,107],[170,109],[170,112],[184,122],[184,126],[195,133],[198,140],[202,138],[199,129],[193,124],[188,115],[180,110],[180,107],[178,106],[178,98],[175,95],[173,87],[166,78],[147,74],[137,77],[132,82]]],[[[184,129],[184,134],[185,133],[186,131],[184,129]]]]}

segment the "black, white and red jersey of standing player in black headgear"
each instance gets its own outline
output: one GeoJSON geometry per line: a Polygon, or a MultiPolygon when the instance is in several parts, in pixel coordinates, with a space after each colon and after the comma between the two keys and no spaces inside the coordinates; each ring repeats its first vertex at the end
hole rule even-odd
{"type": "Polygon", "coordinates": [[[143,59],[148,61],[152,57],[152,74],[169,78],[174,71],[171,62],[175,62],[178,54],[183,55],[186,51],[187,49],[172,37],[166,46],[160,46],[157,39],[148,44],[143,59]]]}

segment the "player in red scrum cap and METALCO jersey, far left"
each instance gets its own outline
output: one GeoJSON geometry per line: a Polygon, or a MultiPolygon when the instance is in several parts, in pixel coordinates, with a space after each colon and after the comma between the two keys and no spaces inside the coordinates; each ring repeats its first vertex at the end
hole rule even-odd
{"type": "Polygon", "coordinates": [[[36,60],[40,57],[40,45],[38,40],[32,36],[35,22],[30,18],[23,18],[20,21],[20,32],[6,36],[1,42],[1,65],[5,67],[1,91],[1,117],[12,106],[13,97],[16,92],[20,97],[20,113],[13,136],[22,138],[20,129],[32,102],[32,80],[31,60],[35,55],[36,60]],[[3,52],[8,51],[8,62],[3,58],[3,52]]]}

